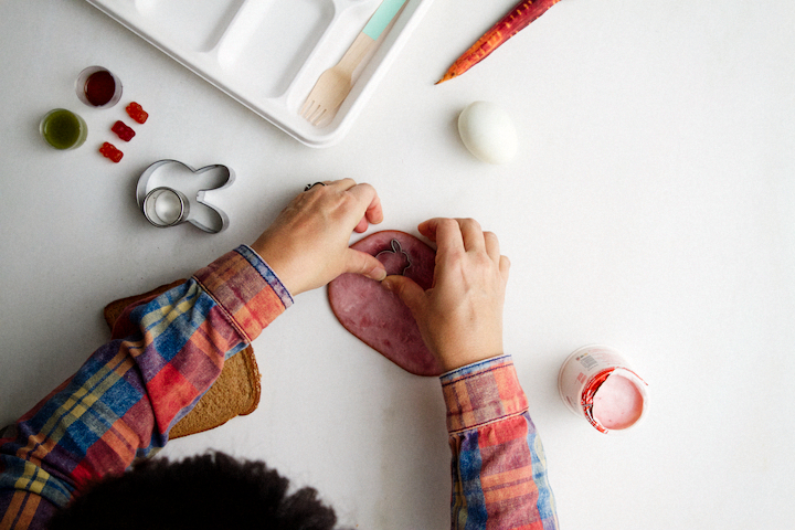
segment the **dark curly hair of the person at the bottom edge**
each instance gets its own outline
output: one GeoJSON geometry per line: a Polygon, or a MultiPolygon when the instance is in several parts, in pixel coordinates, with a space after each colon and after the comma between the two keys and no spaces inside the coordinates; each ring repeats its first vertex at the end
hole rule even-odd
{"type": "Polygon", "coordinates": [[[50,530],[331,530],[333,509],[312,488],[287,495],[289,480],[263,462],[209,453],[181,462],[142,460],[89,488],[50,521],[50,530]]]}

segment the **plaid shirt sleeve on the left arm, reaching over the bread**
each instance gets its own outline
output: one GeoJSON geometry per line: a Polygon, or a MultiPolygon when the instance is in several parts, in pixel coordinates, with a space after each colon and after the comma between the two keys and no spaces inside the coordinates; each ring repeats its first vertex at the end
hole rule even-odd
{"type": "Polygon", "coordinates": [[[84,487],[152,455],[223,369],[293,303],[241,246],[129,311],[135,332],[0,432],[0,530],[44,528],[84,487]]]}

